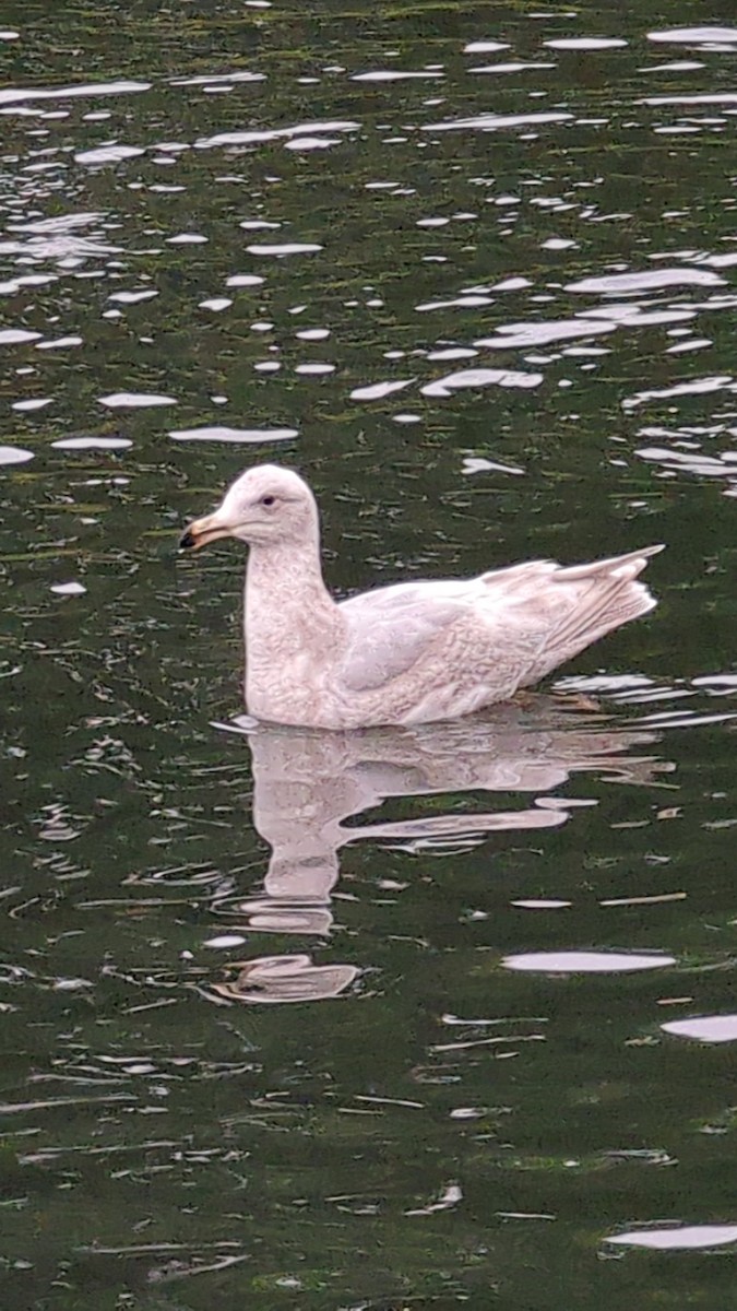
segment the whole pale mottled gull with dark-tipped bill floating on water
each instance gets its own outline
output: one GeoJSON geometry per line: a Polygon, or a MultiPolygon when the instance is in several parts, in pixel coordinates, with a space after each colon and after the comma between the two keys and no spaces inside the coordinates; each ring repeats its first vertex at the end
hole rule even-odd
{"type": "Polygon", "coordinates": [[[312,492],[296,473],[269,464],[241,475],[182,544],[226,535],[250,547],[248,709],[328,729],[456,718],[508,700],[652,610],[653,597],[636,579],[662,549],[397,583],[338,604],[323,581],[312,492]]]}

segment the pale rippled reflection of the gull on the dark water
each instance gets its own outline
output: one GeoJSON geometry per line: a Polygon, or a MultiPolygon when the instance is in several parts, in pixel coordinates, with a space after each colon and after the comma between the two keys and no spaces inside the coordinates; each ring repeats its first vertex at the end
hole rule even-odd
{"type": "MultiPolygon", "coordinates": [[[[595,800],[549,793],[572,773],[615,783],[652,783],[673,766],[645,754],[649,730],[618,728],[580,700],[531,696],[525,707],[418,728],[334,733],[289,729],[240,717],[216,725],[241,733],[252,754],[253,823],[271,848],[264,893],[227,899],[215,910],[247,932],[327,936],[340,851],[384,842],[407,851],[452,850],[500,830],[555,829],[595,800]],[[526,793],[519,809],[442,810],[442,794],[526,793]],[[439,798],[438,812],[414,819],[349,825],[389,797],[439,798]]],[[[215,991],[240,1002],[306,1002],[337,996],[355,979],[354,965],[313,965],[307,954],[260,957],[233,966],[215,991]],[[236,973],[237,971],[237,973],[236,973]]]]}

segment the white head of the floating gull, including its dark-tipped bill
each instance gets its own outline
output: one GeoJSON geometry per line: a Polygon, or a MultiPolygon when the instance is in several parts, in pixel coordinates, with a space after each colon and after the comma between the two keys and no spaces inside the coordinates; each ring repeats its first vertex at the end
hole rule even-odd
{"type": "Polygon", "coordinates": [[[194,519],[180,547],[206,547],[237,538],[250,547],[309,541],[317,535],[315,497],[299,473],[279,464],[257,464],[241,473],[212,514],[194,519]]]}

